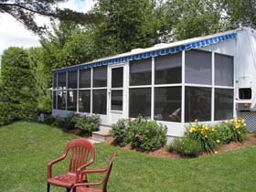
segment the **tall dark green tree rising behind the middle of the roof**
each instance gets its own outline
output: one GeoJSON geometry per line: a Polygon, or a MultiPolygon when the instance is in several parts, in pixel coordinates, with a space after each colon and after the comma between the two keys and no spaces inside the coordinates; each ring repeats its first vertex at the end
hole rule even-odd
{"type": "Polygon", "coordinates": [[[157,31],[163,23],[155,9],[155,0],[100,0],[94,9],[94,13],[102,16],[101,25],[95,29],[99,55],[109,56],[157,43],[157,31]]]}

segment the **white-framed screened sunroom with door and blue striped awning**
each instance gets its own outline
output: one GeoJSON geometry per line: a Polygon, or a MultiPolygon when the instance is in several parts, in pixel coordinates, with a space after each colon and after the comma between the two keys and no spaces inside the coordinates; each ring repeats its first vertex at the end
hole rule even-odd
{"type": "Polygon", "coordinates": [[[235,116],[233,32],[54,70],[53,115],[97,114],[102,127],[142,115],[181,136],[196,119],[235,116]],[[227,44],[228,43],[228,44],[227,44]],[[212,46],[226,46],[221,51],[212,46]]]}

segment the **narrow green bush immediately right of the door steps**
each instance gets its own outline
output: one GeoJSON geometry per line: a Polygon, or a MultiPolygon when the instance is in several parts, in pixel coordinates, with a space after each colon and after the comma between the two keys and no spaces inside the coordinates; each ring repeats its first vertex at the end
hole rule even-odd
{"type": "Polygon", "coordinates": [[[114,143],[119,146],[125,146],[128,144],[128,128],[129,123],[121,119],[118,123],[112,125],[111,135],[115,138],[114,143]]]}

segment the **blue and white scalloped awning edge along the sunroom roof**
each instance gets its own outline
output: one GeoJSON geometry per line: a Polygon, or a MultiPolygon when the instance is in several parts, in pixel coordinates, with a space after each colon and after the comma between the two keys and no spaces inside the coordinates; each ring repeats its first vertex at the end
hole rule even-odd
{"type": "Polygon", "coordinates": [[[177,52],[180,52],[183,50],[204,48],[209,45],[217,44],[217,43],[220,43],[220,42],[232,39],[232,38],[236,38],[236,37],[237,37],[237,33],[233,32],[233,33],[222,35],[219,37],[210,37],[210,38],[207,38],[204,40],[188,43],[188,44],[173,47],[173,48],[163,48],[163,49],[159,49],[159,50],[134,54],[134,55],[120,57],[120,58],[105,59],[105,60],[101,60],[101,61],[80,64],[80,65],[77,65],[74,67],[56,69],[53,72],[59,73],[59,72],[72,71],[72,70],[78,70],[78,69],[89,69],[89,68],[95,68],[95,67],[100,67],[100,66],[105,66],[105,65],[118,64],[118,63],[122,63],[125,61],[148,59],[148,58],[157,57],[157,56],[165,56],[165,55],[174,54],[174,53],[177,53],[177,52]]]}

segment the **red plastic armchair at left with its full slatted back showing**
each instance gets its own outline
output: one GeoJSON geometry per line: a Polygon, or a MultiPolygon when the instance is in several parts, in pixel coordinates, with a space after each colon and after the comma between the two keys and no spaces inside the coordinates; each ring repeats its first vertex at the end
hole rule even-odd
{"type": "Polygon", "coordinates": [[[75,183],[80,183],[87,181],[87,176],[85,174],[81,175],[82,171],[86,166],[91,165],[95,159],[95,150],[93,144],[86,139],[74,139],[70,141],[62,156],[58,159],[50,161],[48,163],[48,192],[50,185],[66,187],[67,191],[73,187],[75,183]],[[69,172],[61,176],[52,176],[52,165],[62,161],[68,155],[69,150],[69,172]],[[91,158],[89,159],[89,155],[91,158]]]}

